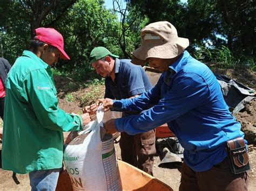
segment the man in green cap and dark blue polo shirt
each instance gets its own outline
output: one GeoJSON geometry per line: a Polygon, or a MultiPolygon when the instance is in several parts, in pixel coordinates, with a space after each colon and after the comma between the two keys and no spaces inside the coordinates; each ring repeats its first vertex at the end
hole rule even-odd
{"type": "MultiPolygon", "coordinates": [[[[141,66],[133,65],[127,59],[119,60],[118,57],[105,47],[93,48],[90,54],[92,67],[96,69],[97,74],[105,77],[105,98],[116,100],[132,98],[152,88],[141,66]]],[[[96,105],[92,104],[90,110],[95,112],[95,109],[96,105]]],[[[125,111],[122,117],[136,115],[139,112],[125,111]]],[[[137,135],[122,132],[119,143],[122,160],[153,175],[155,141],[156,136],[152,129],[137,135]]]]}

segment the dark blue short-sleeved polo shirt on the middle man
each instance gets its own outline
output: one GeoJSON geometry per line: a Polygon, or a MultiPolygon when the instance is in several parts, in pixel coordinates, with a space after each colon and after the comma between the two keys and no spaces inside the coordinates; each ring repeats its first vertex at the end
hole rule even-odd
{"type": "MultiPolygon", "coordinates": [[[[121,100],[140,95],[152,88],[144,69],[141,66],[133,65],[131,60],[116,59],[114,73],[116,75],[114,82],[111,77],[105,79],[105,98],[121,100]]],[[[138,114],[138,112],[125,112],[125,114],[132,115],[138,114]]]]}

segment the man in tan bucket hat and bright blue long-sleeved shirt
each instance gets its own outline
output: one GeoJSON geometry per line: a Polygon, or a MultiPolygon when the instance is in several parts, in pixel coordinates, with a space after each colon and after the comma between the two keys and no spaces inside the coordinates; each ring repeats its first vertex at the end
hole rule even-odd
{"type": "Polygon", "coordinates": [[[228,111],[211,70],[185,51],[188,39],[178,37],[169,22],[145,26],[142,46],[132,52],[133,63],[149,62],[163,72],[156,86],[129,100],[99,100],[116,111],[142,111],[136,116],[110,119],[105,128],[129,135],[164,123],[185,148],[180,190],[246,190],[246,172],[232,174],[227,140],[244,137],[241,125],[228,111]]]}

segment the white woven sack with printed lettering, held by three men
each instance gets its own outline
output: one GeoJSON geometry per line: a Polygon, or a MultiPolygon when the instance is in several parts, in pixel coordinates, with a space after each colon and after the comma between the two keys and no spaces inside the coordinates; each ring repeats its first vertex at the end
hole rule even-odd
{"type": "Polygon", "coordinates": [[[74,190],[122,190],[113,137],[104,142],[100,138],[103,116],[99,107],[97,120],[66,145],[64,164],[74,190]]]}

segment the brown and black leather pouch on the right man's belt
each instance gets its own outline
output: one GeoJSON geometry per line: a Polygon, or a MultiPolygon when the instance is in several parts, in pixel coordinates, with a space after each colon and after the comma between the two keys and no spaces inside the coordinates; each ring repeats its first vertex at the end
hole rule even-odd
{"type": "Polygon", "coordinates": [[[228,140],[226,143],[227,156],[232,173],[239,174],[248,171],[250,164],[244,139],[238,137],[228,140]]]}

